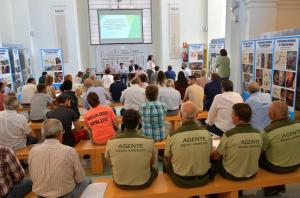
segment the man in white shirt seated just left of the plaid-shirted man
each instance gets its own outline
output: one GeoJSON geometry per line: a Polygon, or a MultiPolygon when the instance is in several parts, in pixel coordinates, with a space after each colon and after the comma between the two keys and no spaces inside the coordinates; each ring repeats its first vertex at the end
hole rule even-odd
{"type": "Polygon", "coordinates": [[[128,110],[139,110],[139,107],[146,102],[145,89],[140,86],[141,79],[135,77],[131,81],[132,86],[122,92],[120,101],[124,104],[121,115],[128,110]]]}

